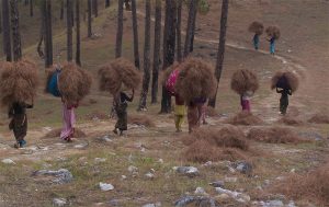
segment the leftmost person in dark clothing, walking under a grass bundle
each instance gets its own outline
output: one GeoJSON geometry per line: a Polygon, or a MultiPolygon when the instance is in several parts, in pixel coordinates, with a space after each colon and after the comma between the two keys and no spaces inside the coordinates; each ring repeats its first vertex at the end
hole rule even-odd
{"type": "Polygon", "coordinates": [[[32,108],[32,104],[26,104],[24,102],[15,102],[9,110],[9,117],[12,118],[9,124],[9,129],[13,130],[14,137],[16,139],[15,148],[23,148],[26,145],[24,140],[27,133],[27,116],[26,108],[32,108]]]}

